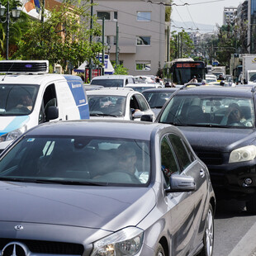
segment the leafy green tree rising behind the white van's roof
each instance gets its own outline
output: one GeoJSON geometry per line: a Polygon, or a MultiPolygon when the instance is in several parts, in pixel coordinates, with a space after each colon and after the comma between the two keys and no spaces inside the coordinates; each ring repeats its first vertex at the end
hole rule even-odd
{"type": "Polygon", "coordinates": [[[76,67],[88,59],[99,64],[97,54],[102,52],[102,44],[90,42],[90,36],[100,36],[101,28],[90,15],[90,6],[88,2],[65,1],[45,16],[44,23],[31,20],[16,56],[48,59],[50,64],[60,64],[64,70],[68,63],[76,67]],[[89,29],[91,18],[92,30],[89,29]]]}

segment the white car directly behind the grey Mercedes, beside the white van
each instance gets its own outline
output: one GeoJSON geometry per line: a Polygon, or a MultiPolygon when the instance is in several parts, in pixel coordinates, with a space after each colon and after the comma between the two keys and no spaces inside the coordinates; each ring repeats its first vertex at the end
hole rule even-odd
{"type": "Polygon", "coordinates": [[[88,91],[90,119],[107,118],[140,121],[141,116],[152,116],[142,93],[131,88],[104,88],[102,90],[88,91]]]}

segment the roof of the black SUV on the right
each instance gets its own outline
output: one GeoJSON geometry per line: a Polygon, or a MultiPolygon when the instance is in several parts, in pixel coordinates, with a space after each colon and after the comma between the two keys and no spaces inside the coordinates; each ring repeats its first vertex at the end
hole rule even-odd
{"type": "Polygon", "coordinates": [[[176,95],[216,95],[216,96],[239,96],[239,97],[253,97],[252,88],[235,88],[222,86],[198,86],[192,88],[183,88],[179,90],[176,95]]]}

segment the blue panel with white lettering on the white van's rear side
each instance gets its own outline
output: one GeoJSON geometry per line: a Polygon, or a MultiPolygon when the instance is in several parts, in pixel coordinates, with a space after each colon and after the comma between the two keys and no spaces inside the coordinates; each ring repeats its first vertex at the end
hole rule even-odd
{"type": "Polygon", "coordinates": [[[83,88],[83,80],[78,76],[64,75],[73,94],[81,119],[89,119],[89,107],[86,92],[83,88]]]}

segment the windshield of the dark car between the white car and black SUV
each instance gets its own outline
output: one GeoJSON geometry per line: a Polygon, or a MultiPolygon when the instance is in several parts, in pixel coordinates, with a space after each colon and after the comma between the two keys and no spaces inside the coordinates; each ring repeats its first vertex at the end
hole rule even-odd
{"type": "Polygon", "coordinates": [[[143,92],[143,95],[149,102],[149,107],[163,107],[173,92],[143,92]]]}

